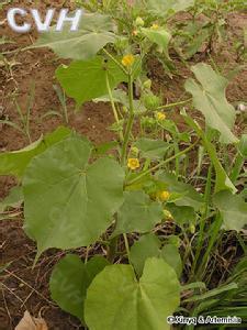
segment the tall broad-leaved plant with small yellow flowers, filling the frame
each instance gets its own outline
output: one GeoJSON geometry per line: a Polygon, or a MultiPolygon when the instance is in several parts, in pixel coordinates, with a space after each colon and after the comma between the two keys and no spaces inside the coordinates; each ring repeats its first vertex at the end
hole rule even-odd
{"type": "MultiPolygon", "coordinates": [[[[154,12],[151,3],[157,1],[149,3],[154,12]]],[[[58,67],[56,77],[78,108],[86,101],[110,101],[116,142],[97,146],[59,128],[27,148],[0,155],[0,174],[22,180],[24,230],[37,243],[36,261],[49,248],[87,246],[83,261],[67,254],[55,266],[53,299],[96,330],[170,329],[172,314],[222,311],[225,293],[228,299],[233,294],[234,312],[243,317],[239,272],[210,287],[218,238],[233,230],[242,240],[247,224],[247,204],[235,186],[246,139],[239,142],[233,132],[227,79],[197,64],[194,78],[186,82],[192,98],[162,106],[143,78],[143,63],[153,46],[168,54],[166,26],[138,24],[137,42],[109,16],[87,14],[82,21],[76,36],[43,34],[34,46],[49,46],[72,59],[58,67]],[[119,44],[123,37],[127,52],[119,44]],[[116,89],[120,82],[127,84],[127,91],[116,89]],[[141,86],[139,99],[134,98],[134,82],[141,86]],[[204,124],[193,120],[187,105],[201,111],[204,124]],[[180,107],[186,132],[167,118],[165,110],[172,107],[180,107]],[[190,153],[199,146],[209,164],[200,191],[189,177],[192,167],[197,170],[190,153]],[[235,153],[231,168],[217,156],[226,146],[235,153]],[[167,234],[168,224],[173,227],[167,234]],[[91,257],[96,243],[104,253],[91,257]]]]}

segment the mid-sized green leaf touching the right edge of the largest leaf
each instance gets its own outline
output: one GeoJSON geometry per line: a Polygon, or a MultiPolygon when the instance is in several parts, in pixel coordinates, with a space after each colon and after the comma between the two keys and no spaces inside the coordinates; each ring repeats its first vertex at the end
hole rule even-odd
{"type": "Polygon", "coordinates": [[[162,207],[144,191],[125,191],[114,234],[148,232],[162,219],[162,207]]]}

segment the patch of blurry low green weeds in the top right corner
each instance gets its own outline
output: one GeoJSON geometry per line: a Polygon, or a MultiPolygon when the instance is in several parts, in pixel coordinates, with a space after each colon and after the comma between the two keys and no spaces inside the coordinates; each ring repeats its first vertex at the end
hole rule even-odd
{"type": "MultiPolygon", "coordinates": [[[[198,52],[212,53],[215,45],[227,38],[227,14],[235,10],[244,10],[244,1],[195,0],[190,13],[192,20],[177,24],[175,46],[186,59],[198,52]]],[[[243,44],[236,45],[242,56],[243,44]]]]}

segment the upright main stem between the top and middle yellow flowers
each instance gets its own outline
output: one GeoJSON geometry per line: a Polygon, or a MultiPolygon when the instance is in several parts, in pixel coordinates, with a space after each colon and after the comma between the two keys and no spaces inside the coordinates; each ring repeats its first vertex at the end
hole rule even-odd
{"type": "Polygon", "coordinates": [[[132,127],[134,123],[134,103],[133,103],[133,78],[131,73],[128,74],[128,102],[130,102],[130,116],[127,120],[127,127],[124,135],[124,142],[123,142],[123,148],[122,148],[122,157],[121,157],[121,164],[124,165],[126,154],[127,154],[127,145],[132,132],[132,127]]]}

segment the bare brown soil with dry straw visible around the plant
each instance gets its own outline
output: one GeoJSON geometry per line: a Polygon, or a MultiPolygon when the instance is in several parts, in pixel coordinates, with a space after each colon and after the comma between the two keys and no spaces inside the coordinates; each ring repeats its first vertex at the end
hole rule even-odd
{"type": "MultiPolygon", "coordinates": [[[[64,6],[65,1],[42,1],[38,4],[42,9],[46,7],[64,6]]],[[[13,1],[12,7],[33,6],[34,1],[13,1]]],[[[21,50],[31,45],[36,38],[36,32],[19,35],[12,32],[5,20],[5,7],[0,12],[0,36],[4,35],[14,43],[0,46],[0,52],[20,52],[7,55],[9,68],[0,66],[0,113],[13,122],[18,122],[18,114],[14,110],[13,95],[16,96],[21,108],[25,105],[30,95],[31,85],[35,81],[35,101],[31,112],[31,138],[37,140],[41,134],[53,131],[61,124],[57,118],[49,118],[41,121],[50,109],[58,109],[59,101],[53,89],[56,84],[54,74],[57,66],[61,63],[52,52],[47,50],[21,50]]],[[[239,37],[243,26],[247,25],[246,13],[233,13],[228,16],[228,36],[229,41],[223,45],[217,45],[217,50],[212,55],[215,63],[224,68],[227,74],[231,69],[239,65],[237,56],[232,51],[233,41],[239,37]]],[[[209,61],[205,54],[197,54],[191,64],[201,61],[209,61]]],[[[173,102],[183,99],[184,80],[191,75],[184,65],[175,58],[178,74],[173,78],[165,73],[161,65],[150,61],[149,76],[154,79],[154,89],[161,91],[164,100],[173,102]]],[[[232,102],[247,102],[247,69],[242,69],[231,82],[227,89],[227,98],[232,102]]],[[[114,139],[114,134],[108,130],[113,122],[111,109],[104,103],[88,102],[83,109],[75,113],[75,103],[68,101],[69,125],[77,132],[87,135],[91,141],[101,143],[114,139]]],[[[178,119],[175,111],[172,118],[178,119]]],[[[178,119],[179,120],[179,119],[178,119]]],[[[180,123],[182,128],[182,123],[180,123]]],[[[238,128],[236,128],[238,130],[238,128]]],[[[240,128],[239,128],[240,130],[240,128]]],[[[14,129],[0,125],[0,152],[13,151],[27,145],[26,139],[14,129]]],[[[0,199],[8,195],[10,188],[16,182],[11,177],[0,177],[0,199]]],[[[27,309],[34,316],[42,312],[52,330],[71,330],[82,329],[80,322],[74,317],[63,312],[49,298],[48,280],[53,265],[63,256],[63,252],[50,250],[46,252],[33,268],[35,257],[35,243],[32,242],[22,230],[22,220],[1,221],[1,264],[11,263],[8,271],[2,272],[2,286],[0,294],[0,330],[11,330],[18,324],[27,309]]],[[[79,251],[83,254],[83,249],[79,251]]]]}

